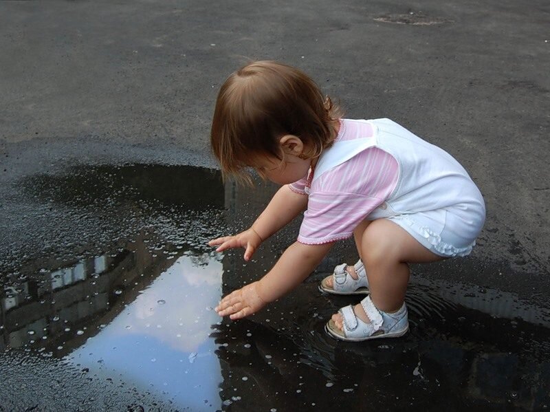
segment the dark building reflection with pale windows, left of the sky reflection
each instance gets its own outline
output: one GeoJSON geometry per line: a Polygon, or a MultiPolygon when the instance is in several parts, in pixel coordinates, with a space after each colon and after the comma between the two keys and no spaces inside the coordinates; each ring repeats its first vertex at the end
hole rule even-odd
{"type": "Polygon", "coordinates": [[[0,299],[3,347],[34,345],[56,356],[78,347],[90,333],[78,336],[75,329],[93,331],[98,323],[108,323],[122,310],[122,302],[170,264],[164,256],[153,257],[145,236],[138,235],[117,253],[42,269],[41,281],[32,279],[5,290],[0,299]]]}

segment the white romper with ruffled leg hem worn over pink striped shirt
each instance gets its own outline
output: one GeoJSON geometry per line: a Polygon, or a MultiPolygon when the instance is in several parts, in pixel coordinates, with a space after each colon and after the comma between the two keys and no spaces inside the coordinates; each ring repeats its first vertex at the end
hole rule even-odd
{"type": "Polygon", "coordinates": [[[465,169],[449,153],[386,118],[368,122],[369,138],[338,141],[319,158],[313,180],[369,147],[399,164],[393,193],[366,219],[389,219],[443,257],[472,251],[485,221],[485,202],[465,169]]]}

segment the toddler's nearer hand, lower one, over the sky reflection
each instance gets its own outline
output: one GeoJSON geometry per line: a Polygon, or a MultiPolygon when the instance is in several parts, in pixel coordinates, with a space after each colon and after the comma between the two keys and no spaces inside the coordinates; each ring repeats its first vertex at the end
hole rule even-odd
{"type": "Polygon", "coordinates": [[[258,312],[267,304],[258,294],[258,285],[259,282],[250,283],[250,285],[228,294],[221,299],[216,307],[216,312],[219,316],[229,315],[233,320],[258,312]]]}

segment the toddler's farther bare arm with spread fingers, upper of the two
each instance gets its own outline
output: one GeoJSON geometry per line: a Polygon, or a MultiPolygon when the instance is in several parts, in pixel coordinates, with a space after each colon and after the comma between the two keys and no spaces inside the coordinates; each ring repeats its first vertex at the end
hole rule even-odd
{"type": "Polygon", "coordinates": [[[262,241],[273,235],[307,206],[307,196],[295,193],[287,184],[272,197],[265,210],[252,226],[234,236],[219,237],[208,242],[218,246],[217,252],[230,248],[245,248],[245,261],[250,260],[262,241]]]}

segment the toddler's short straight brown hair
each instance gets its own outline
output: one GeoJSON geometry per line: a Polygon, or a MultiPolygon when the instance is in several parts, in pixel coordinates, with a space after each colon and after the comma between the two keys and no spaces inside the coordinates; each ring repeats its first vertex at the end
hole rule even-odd
{"type": "Polygon", "coordinates": [[[256,61],[232,73],[216,100],[210,143],[223,175],[249,180],[256,155],[281,158],[279,139],[296,135],[316,158],[332,144],[340,109],[299,69],[256,61]]]}

